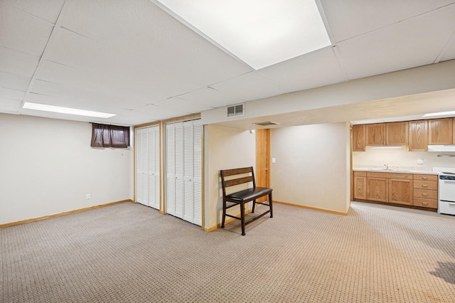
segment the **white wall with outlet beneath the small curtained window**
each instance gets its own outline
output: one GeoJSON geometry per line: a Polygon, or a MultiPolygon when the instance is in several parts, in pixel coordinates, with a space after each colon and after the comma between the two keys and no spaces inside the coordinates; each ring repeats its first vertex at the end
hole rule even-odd
{"type": "Polygon", "coordinates": [[[87,122],[0,114],[0,224],[132,198],[131,147],[95,149],[91,134],[87,122]]]}

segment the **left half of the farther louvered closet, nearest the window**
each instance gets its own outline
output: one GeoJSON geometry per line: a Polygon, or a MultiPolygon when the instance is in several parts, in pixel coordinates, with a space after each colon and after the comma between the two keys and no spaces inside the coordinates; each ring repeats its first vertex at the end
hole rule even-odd
{"type": "Polygon", "coordinates": [[[136,129],[137,202],[149,205],[149,142],[146,129],[136,129]]]}

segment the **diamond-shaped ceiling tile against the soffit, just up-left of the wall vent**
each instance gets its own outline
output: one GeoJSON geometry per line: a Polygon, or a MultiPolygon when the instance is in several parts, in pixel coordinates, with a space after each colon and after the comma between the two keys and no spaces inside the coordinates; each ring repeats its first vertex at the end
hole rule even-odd
{"type": "Polygon", "coordinates": [[[178,96],[183,100],[191,102],[200,102],[208,107],[222,107],[225,105],[232,105],[244,102],[243,100],[230,95],[223,94],[212,87],[203,87],[200,90],[187,92],[186,94],[178,96]]]}

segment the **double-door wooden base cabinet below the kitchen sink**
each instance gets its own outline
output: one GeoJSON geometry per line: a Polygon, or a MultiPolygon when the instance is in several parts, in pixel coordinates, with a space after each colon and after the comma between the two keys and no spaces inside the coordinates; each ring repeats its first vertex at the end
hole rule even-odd
{"type": "Polygon", "coordinates": [[[367,172],[367,200],[412,205],[412,174],[367,172]]]}

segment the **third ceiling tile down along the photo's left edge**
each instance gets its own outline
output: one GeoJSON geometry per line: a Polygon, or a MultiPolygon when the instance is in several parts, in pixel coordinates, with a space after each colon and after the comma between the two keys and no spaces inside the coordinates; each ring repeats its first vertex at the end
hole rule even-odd
{"type": "Polygon", "coordinates": [[[0,71],[31,78],[39,58],[0,46],[0,71]]]}

